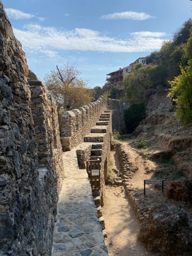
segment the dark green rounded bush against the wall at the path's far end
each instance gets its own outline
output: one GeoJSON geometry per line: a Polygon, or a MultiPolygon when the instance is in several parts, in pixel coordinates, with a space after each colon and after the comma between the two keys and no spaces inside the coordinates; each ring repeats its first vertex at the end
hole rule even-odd
{"type": "Polygon", "coordinates": [[[128,133],[132,133],[139,123],[146,117],[146,106],[144,103],[132,104],[124,111],[124,120],[128,133]]]}

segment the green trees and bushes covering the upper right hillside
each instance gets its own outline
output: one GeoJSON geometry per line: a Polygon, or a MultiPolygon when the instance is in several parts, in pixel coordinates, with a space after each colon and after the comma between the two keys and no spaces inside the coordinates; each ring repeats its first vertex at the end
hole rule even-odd
{"type": "Polygon", "coordinates": [[[159,85],[169,89],[169,97],[177,103],[177,115],[184,126],[192,124],[191,29],[192,19],[189,19],[174,34],[173,40],[164,42],[158,52],[146,57],[146,66],[135,64],[133,72],[123,81],[131,103],[147,102],[159,85]]]}

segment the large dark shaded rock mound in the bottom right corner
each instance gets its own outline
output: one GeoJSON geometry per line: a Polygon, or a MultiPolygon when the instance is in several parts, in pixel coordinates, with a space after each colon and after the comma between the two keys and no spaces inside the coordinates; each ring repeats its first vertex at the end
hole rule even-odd
{"type": "Polygon", "coordinates": [[[139,238],[150,251],[162,256],[183,255],[192,249],[192,229],[186,212],[176,206],[152,208],[143,220],[139,238]]]}

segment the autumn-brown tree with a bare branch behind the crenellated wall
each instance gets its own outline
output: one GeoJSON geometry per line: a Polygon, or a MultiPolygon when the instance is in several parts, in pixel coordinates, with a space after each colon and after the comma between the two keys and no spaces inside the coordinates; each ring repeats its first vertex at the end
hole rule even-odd
{"type": "Polygon", "coordinates": [[[46,74],[44,83],[57,101],[59,114],[92,101],[92,90],[88,88],[87,81],[79,78],[80,74],[76,65],[70,63],[46,74]]]}

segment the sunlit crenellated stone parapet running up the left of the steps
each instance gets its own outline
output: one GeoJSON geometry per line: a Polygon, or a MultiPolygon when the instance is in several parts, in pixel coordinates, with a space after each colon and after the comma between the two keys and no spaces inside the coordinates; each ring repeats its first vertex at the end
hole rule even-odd
{"type": "Polygon", "coordinates": [[[107,109],[107,99],[100,96],[95,102],[86,106],[66,111],[60,123],[63,150],[71,150],[84,141],[84,136],[99,120],[100,114],[107,109]]]}

